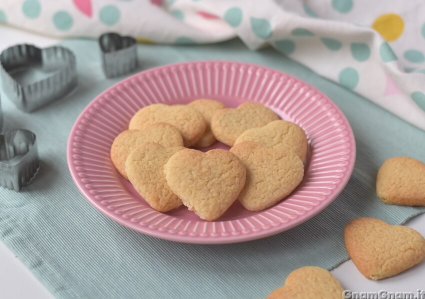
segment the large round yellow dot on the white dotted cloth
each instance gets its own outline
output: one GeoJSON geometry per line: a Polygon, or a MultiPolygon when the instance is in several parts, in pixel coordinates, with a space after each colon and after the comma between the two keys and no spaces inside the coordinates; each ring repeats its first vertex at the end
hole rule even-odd
{"type": "Polygon", "coordinates": [[[398,14],[385,13],[375,19],[372,28],[378,31],[386,41],[392,41],[403,33],[404,22],[398,14]]]}

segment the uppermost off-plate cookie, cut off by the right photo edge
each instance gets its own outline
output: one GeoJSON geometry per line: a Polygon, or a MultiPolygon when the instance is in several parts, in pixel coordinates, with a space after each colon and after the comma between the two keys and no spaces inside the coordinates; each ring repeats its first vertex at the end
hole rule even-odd
{"type": "Polygon", "coordinates": [[[425,164],[403,156],[387,159],[376,176],[376,194],[389,204],[425,206],[425,164]]]}

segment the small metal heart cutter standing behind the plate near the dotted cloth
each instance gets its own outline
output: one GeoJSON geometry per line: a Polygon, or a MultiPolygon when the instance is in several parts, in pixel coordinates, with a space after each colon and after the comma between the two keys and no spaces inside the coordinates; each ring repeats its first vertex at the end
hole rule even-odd
{"type": "Polygon", "coordinates": [[[105,33],[99,37],[99,45],[107,78],[123,75],[137,67],[137,47],[133,37],[105,33]]]}

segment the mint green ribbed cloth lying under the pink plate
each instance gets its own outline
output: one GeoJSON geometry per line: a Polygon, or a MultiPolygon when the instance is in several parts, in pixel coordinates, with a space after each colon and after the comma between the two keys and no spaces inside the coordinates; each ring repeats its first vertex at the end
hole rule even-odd
{"type": "Polygon", "coordinates": [[[205,46],[139,45],[143,69],[229,59],[298,76],[345,113],[356,137],[357,160],[348,185],[323,212],[268,238],[193,245],[129,230],[96,211],[69,175],[65,149],[72,124],[90,100],[116,80],[104,78],[95,41],[63,44],[75,51],[78,62],[80,84],[70,97],[24,114],[2,93],[6,129],[23,127],[37,134],[42,166],[21,193],[0,189],[1,240],[59,298],[262,298],[294,268],[332,268],[345,260],[342,228],[348,220],[373,216],[402,223],[425,211],[385,205],[374,195],[376,171],[384,159],[409,155],[425,160],[425,132],[271,48],[250,52],[238,40],[205,46]]]}

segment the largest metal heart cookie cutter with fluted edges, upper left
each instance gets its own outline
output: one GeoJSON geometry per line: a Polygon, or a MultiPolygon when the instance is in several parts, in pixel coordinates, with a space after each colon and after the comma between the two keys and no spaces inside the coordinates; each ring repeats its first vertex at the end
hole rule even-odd
{"type": "Polygon", "coordinates": [[[75,55],[61,46],[40,49],[30,44],[18,44],[9,47],[0,54],[0,74],[5,92],[25,112],[66,95],[77,84],[75,55]],[[52,74],[34,83],[21,85],[15,79],[15,74],[29,67],[40,67],[52,74]]]}

